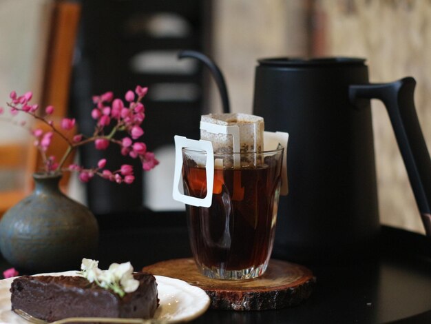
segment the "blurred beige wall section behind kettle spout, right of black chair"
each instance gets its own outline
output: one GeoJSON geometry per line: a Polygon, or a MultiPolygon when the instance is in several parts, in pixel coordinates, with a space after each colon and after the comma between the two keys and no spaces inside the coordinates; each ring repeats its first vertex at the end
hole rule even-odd
{"type": "MultiPolygon", "coordinates": [[[[214,1],[213,58],[227,81],[233,112],[251,113],[257,59],[306,51],[302,3],[306,1],[214,1]]],[[[221,111],[216,92],[213,110],[221,111]]]]}

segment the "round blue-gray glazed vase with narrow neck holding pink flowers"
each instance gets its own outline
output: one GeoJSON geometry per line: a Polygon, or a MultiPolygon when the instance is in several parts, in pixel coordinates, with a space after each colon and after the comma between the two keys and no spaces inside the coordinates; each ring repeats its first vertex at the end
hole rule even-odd
{"type": "Polygon", "coordinates": [[[61,174],[33,174],[30,196],[0,221],[0,250],[19,270],[52,272],[78,269],[94,256],[98,223],[90,210],[59,189],[61,174]]]}

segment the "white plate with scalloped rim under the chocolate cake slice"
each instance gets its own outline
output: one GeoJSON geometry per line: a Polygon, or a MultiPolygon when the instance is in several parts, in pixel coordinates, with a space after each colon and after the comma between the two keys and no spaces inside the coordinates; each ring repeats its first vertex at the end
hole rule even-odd
{"type": "MultiPolygon", "coordinates": [[[[56,272],[49,275],[76,275],[75,271],[56,272]]],[[[209,307],[209,296],[199,287],[185,281],[155,276],[157,281],[158,307],[154,318],[164,319],[169,323],[191,321],[202,315],[209,307]]],[[[0,280],[0,323],[28,324],[23,318],[10,310],[10,284],[14,278],[0,280]]]]}

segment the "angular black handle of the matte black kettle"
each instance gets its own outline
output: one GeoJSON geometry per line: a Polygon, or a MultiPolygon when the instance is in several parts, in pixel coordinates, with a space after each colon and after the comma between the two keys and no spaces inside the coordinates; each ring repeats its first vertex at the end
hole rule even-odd
{"type": "Polygon", "coordinates": [[[412,77],[392,83],[350,85],[349,98],[357,108],[368,105],[364,99],[380,99],[385,104],[425,232],[431,236],[431,159],[414,108],[415,85],[412,77]]]}

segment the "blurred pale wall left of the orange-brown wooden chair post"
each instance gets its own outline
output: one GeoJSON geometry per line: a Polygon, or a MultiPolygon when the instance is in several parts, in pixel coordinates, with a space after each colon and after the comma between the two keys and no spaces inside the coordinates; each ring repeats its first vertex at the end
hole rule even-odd
{"type": "MultiPolygon", "coordinates": [[[[45,59],[45,46],[41,44],[48,39],[51,1],[0,1],[0,107],[6,108],[12,90],[19,94],[31,90],[32,102],[38,102],[45,59]]],[[[8,108],[5,110],[8,112],[8,108]]],[[[4,114],[3,118],[8,116],[4,114]]],[[[25,117],[19,120],[31,121],[25,117]]],[[[1,121],[0,143],[25,141],[27,135],[22,128],[1,121]]]]}

